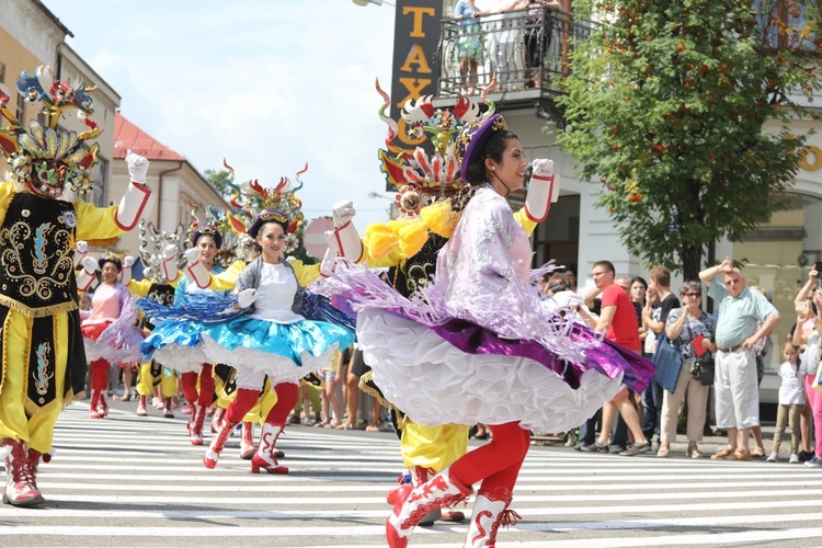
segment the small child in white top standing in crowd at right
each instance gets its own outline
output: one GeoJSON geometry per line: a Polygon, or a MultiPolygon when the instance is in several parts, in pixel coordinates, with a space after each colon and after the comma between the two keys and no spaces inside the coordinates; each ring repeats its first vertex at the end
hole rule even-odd
{"type": "Polygon", "coordinates": [[[768,463],[779,460],[779,445],[783,442],[785,426],[790,424],[790,464],[799,464],[799,416],[804,408],[802,393],[802,375],[799,373],[799,352],[792,342],[783,345],[785,363],[779,366],[779,407],[776,413],[774,446],[768,455],[768,463]]]}

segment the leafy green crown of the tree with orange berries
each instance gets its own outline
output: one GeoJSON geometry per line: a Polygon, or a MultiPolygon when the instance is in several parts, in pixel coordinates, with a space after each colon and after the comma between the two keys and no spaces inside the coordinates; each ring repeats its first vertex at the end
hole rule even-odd
{"type": "Polygon", "coordinates": [[[788,126],[818,119],[804,96],[820,88],[817,1],[574,8],[596,26],[560,84],[559,141],[602,183],[627,249],[696,279],[706,247],[785,206],[807,139],[788,126]]]}

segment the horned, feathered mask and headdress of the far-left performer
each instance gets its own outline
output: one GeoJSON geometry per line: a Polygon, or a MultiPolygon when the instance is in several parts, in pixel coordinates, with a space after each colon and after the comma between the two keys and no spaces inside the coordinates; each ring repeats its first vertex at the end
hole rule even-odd
{"type": "Polygon", "coordinates": [[[0,151],[7,157],[5,180],[38,196],[59,198],[68,187],[78,193],[91,192],[94,186],[91,168],[98,162],[100,146],[87,146],[85,140],[100,135],[100,127],[89,116],[95,88],[81,80],[73,83],[52,81],[48,67],[39,66],[34,76],[23,71],[16,80],[18,92],[31,103],[39,102],[47,123],[28,123],[26,132],[8,109],[11,92],[0,83],[0,115],[9,125],[0,128],[0,151]],[[46,91],[48,90],[48,91],[46,91]],[[59,129],[64,111],[77,110],[77,116],[89,127],[77,134],[59,129]]]}

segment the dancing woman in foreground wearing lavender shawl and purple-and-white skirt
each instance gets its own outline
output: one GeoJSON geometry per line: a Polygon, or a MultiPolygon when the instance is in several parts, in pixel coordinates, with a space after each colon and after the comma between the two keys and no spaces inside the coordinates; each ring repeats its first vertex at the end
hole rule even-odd
{"type": "MultiPolygon", "coordinates": [[[[624,383],[641,391],[654,372],[574,323],[567,307],[543,304],[528,238],[505,199],[523,186],[527,162],[502,116],[466,124],[455,156],[466,205],[427,287],[409,299],[350,263],[317,287],[358,311],[357,341],[386,399],[416,423],[483,423],[493,436],[427,482],[399,488],[386,522],[391,547],[407,546],[420,520],[467,500],[477,482],[467,546],[493,546],[515,516],[507,509],[529,431],[574,427],[624,383]]],[[[549,160],[533,167],[552,169],[549,160]]]]}

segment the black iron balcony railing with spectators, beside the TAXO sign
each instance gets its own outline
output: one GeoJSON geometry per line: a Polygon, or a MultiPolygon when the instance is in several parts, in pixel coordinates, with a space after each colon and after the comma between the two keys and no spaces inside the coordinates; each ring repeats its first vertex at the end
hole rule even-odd
{"type": "Polygon", "coordinates": [[[557,93],[574,41],[587,39],[587,21],[547,7],[487,15],[478,20],[444,19],[437,52],[439,99],[479,94],[494,75],[491,93],[502,101],[557,93]],[[475,70],[476,69],[476,70],[475,70]]]}

